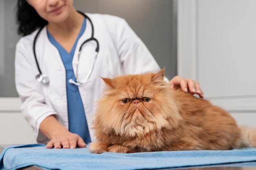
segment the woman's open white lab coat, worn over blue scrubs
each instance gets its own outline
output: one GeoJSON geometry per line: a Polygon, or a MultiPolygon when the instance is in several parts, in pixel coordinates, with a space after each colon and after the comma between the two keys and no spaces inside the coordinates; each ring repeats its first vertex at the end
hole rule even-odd
{"type": "MultiPolygon", "coordinates": [[[[95,101],[99,99],[103,88],[100,77],[113,78],[117,75],[157,72],[157,62],[144,43],[128,26],[124,19],[101,14],[89,14],[94,24],[94,37],[99,41],[99,53],[94,65],[90,82],[79,86],[79,93],[85,109],[92,141],[92,119],[95,101]]],[[[86,29],[79,39],[73,57],[75,76],[83,81],[88,74],[95,53],[95,42],[86,43],[79,60],[81,44],[91,36],[91,24],[87,20],[86,29]]],[[[49,139],[40,131],[40,123],[49,115],[56,115],[58,121],[68,129],[65,67],[56,47],[47,38],[46,27],[41,31],[36,42],[36,55],[43,74],[49,77],[49,84],[36,81],[38,68],[33,54],[33,41],[38,30],[22,37],[16,46],[16,88],[22,100],[22,114],[34,129],[39,143],[49,139]]],[[[150,36],[150,35],[148,35],[150,36]]]]}

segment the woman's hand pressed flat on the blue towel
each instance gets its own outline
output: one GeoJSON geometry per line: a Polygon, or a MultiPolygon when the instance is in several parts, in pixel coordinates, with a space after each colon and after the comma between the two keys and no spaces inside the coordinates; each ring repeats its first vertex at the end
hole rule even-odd
{"type": "Polygon", "coordinates": [[[79,135],[71,133],[68,130],[60,130],[54,133],[52,139],[47,143],[46,148],[72,149],[76,148],[76,146],[84,148],[86,144],[79,135]]]}

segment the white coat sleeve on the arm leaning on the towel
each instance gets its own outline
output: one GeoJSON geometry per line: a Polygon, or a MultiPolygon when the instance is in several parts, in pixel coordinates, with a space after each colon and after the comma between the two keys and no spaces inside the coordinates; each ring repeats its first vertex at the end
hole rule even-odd
{"type": "MultiPolygon", "coordinates": [[[[33,128],[35,138],[40,142],[38,139],[40,123],[47,116],[56,113],[45,104],[44,96],[40,92],[39,83],[35,78],[38,70],[32,51],[31,43],[33,41],[24,39],[21,38],[16,45],[15,83],[22,101],[22,114],[33,128]]],[[[42,140],[45,140],[45,137],[42,140]]]]}

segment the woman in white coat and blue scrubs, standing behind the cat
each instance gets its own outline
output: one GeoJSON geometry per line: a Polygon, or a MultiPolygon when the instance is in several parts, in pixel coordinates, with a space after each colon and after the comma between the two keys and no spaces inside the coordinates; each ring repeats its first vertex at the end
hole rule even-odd
{"type": "MultiPolygon", "coordinates": [[[[157,72],[157,62],[124,19],[80,13],[73,0],[18,0],[16,88],[22,114],[47,148],[85,147],[100,77],[157,72]]],[[[167,80],[168,81],[168,80],[167,80]]],[[[169,84],[203,93],[180,76],[169,84]]]]}

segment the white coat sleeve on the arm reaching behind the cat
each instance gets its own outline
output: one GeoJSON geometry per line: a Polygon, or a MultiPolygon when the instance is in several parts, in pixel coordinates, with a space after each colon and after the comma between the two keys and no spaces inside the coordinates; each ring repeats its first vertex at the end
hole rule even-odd
{"type": "Polygon", "coordinates": [[[114,41],[124,74],[140,74],[160,70],[146,45],[124,19],[120,19],[115,28],[114,41]]]}

